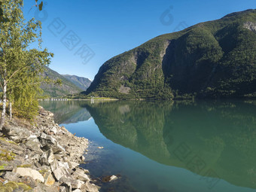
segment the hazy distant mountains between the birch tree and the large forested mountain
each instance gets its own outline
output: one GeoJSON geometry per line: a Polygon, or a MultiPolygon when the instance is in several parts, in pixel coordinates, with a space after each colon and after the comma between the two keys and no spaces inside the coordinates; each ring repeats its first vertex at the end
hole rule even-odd
{"type": "Polygon", "coordinates": [[[81,78],[75,75],[60,75],[48,67],[43,76],[48,77],[53,81],[57,79],[62,81],[62,85],[41,84],[41,89],[44,90],[44,95],[50,97],[81,93],[82,91],[87,90],[87,87],[89,87],[91,83],[87,78],[81,78]]]}

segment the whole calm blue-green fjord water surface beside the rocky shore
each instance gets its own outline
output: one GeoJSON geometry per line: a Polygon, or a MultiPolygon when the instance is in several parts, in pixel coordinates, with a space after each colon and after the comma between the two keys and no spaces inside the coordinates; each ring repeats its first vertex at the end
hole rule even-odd
{"type": "Polygon", "coordinates": [[[256,191],[256,102],[41,102],[89,139],[101,191],[256,191]],[[99,149],[97,147],[104,148],[99,149]]]}

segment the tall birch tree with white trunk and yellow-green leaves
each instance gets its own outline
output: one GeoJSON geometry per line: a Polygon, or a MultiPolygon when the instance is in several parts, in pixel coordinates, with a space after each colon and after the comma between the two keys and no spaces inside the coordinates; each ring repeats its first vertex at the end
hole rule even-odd
{"type": "MultiPolygon", "coordinates": [[[[41,22],[35,19],[25,22],[23,0],[2,0],[0,5],[4,18],[0,22],[0,86],[3,93],[0,129],[2,129],[5,123],[8,90],[27,87],[29,84],[25,85],[24,79],[33,79],[43,72],[44,66],[49,65],[50,56],[53,54],[48,53],[47,49],[41,50],[41,22]],[[29,46],[35,47],[35,45],[38,49],[29,49],[29,46]]],[[[14,98],[10,95],[9,97],[14,98]]]]}

